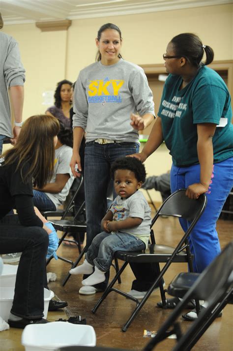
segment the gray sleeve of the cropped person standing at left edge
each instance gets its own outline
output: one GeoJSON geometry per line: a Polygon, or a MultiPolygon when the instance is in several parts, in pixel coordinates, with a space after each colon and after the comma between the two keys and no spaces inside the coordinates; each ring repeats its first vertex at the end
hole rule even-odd
{"type": "Polygon", "coordinates": [[[4,76],[7,86],[24,85],[25,69],[21,63],[18,43],[12,40],[4,63],[4,76]]]}

